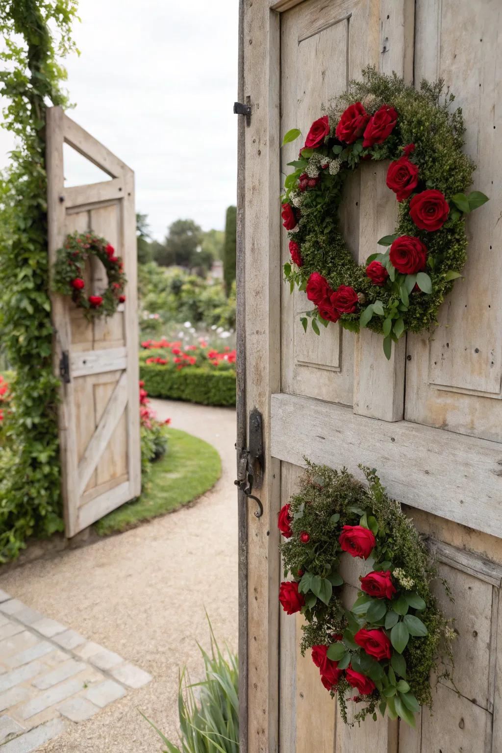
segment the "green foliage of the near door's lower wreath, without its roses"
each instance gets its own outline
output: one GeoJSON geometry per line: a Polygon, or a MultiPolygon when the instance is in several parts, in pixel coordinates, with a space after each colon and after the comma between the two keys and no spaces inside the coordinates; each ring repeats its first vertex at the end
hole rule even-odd
{"type": "MultiPolygon", "coordinates": [[[[312,646],[328,645],[327,656],[338,661],[339,669],[350,663],[352,669],[376,684],[372,694],[361,697],[364,706],[355,713],[354,721],[360,723],[367,715],[376,720],[379,709],[382,716],[388,712],[390,718],[399,716],[415,726],[414,713],[420,706],[432,705],[431,671],[436,669],[441,677],[449,675],[444,663],[441,674],[437,664],[445,656],[452,666],[450,642],[455,633],[431,593],[431,581],[437,578],[437,572],[412,520],[385,493],[376,471],[361,468],[368,486],[355,480],[345,468],[334,471],[307,461],[300,491],[290,499],[291,538],[281,543],[284,578],[291,575],[306,600],[301,609],[306,619],[302,654],[312,646]],[[391,571],[397,587],[391,600],[375,599],[359,591],[350,610],[342,604],[340,556],[350,556],[342,553],[339,544],[345,525],[373,530],[376,545],[367,561],[367,572],[391,571]],[[309,534],[306,544],[300,539],[302,532],[309,534]],[[415,617],[425,626],[427,635],[416,635],[423,629],[418,626],[413,630],[412,626],[418,625],[415,617]],[[406,623],[411,625],[410,631],[404,630],[406,623]],[[396,629],[394,625],[401,627],[396,629]],[[354,634],[363,627],[385,630],[393,646],[390,661],[376,661],[354,642],[354,634]],[[333,642],[333,636],[339,633],[342,642],[333,642]],[[398,633],[400,640],[396,638],[398,633]]],[[[447,584],[443,584],[449,593],[447,584]]],[[[339,680],[337,695],[346,723],[347,701],[354,695],[354,688],[345,677],[339,680]]]]}

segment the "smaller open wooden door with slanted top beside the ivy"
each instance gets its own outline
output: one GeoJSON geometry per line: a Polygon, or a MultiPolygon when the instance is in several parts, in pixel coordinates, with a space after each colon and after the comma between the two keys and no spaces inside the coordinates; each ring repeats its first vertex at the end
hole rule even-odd
{"type": "MultiPolygon", "coordinates": [[[[51,296],[56,373],[68,364],[59,439],[65,530],[74,536],[141,489],[134,173],[54,107],[47,111],[47,181],[51,264],[68,233],[92,230],[123,258],[127,277],[126,302],[93,323],[71,300],[51,296]],[[64,144],[112,179],[65,187],[64,144]]],[[[93,293],[105,288],[101,262],[89,264],[85,282],[93,293]]]]}

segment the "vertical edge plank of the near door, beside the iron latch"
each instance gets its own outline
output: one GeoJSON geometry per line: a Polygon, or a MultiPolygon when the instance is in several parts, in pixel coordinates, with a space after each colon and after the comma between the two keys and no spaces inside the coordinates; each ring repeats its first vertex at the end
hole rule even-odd
{"type": "Polygon", "coordinates": [[[258,495],[263,516],[248,503],[248,751],[278,749],[277,514],[280,475],[269,456],[270,394],[279,388],[280,215],[279,23],[263,3],[244,8],[246,402],[265,428],[265,474],[258,495]]]}

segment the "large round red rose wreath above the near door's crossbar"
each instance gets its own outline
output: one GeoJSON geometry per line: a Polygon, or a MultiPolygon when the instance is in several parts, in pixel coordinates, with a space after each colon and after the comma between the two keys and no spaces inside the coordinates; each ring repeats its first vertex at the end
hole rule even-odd
{"type": "MultiPolygon", "coordinates": [[[[437,310],[466,261],[466,215],[488,197],[464,193],[474,164],[461,151],[461,109],[443,104],[443,81],[422,81],[420,91],[397,75],[372,67],[327,115],[312,123],[294,172],[284,181],[281,216],[288,230],[291,264],[284,275],[306,290],[315,309],[305,312],[319,334],[318,322],[339,322],[358,332],[368,327],[383,334],[384,352],[409,330],[436,322],[437,310]],[[393,160],[387,186],[396,194],[399,217],[394,233],[379,240],[387,247],[358,266],[337,219],[345,178],[361,160],[393,160]]],[[[292,129],[282,145],[300,136],[292,129]]]]}

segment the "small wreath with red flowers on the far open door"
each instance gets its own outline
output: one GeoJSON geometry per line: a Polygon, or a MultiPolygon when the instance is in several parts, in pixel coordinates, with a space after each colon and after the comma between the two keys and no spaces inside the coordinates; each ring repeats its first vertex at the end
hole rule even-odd
{"type": "Polygon", "coordinates": [[[104,238],[94,233],[73,233],[66,236],[65,245],[57,251],[53,267],[53,290],[71,296],[71,300],[84,309],[87,319],[111,316],[119,303],[126,300],[123,261],[104,238]],[[84,269],[87,258],[96,256],[102,262],[108,277],[108,286],[102,294],[87,294],[84,269]]]}

